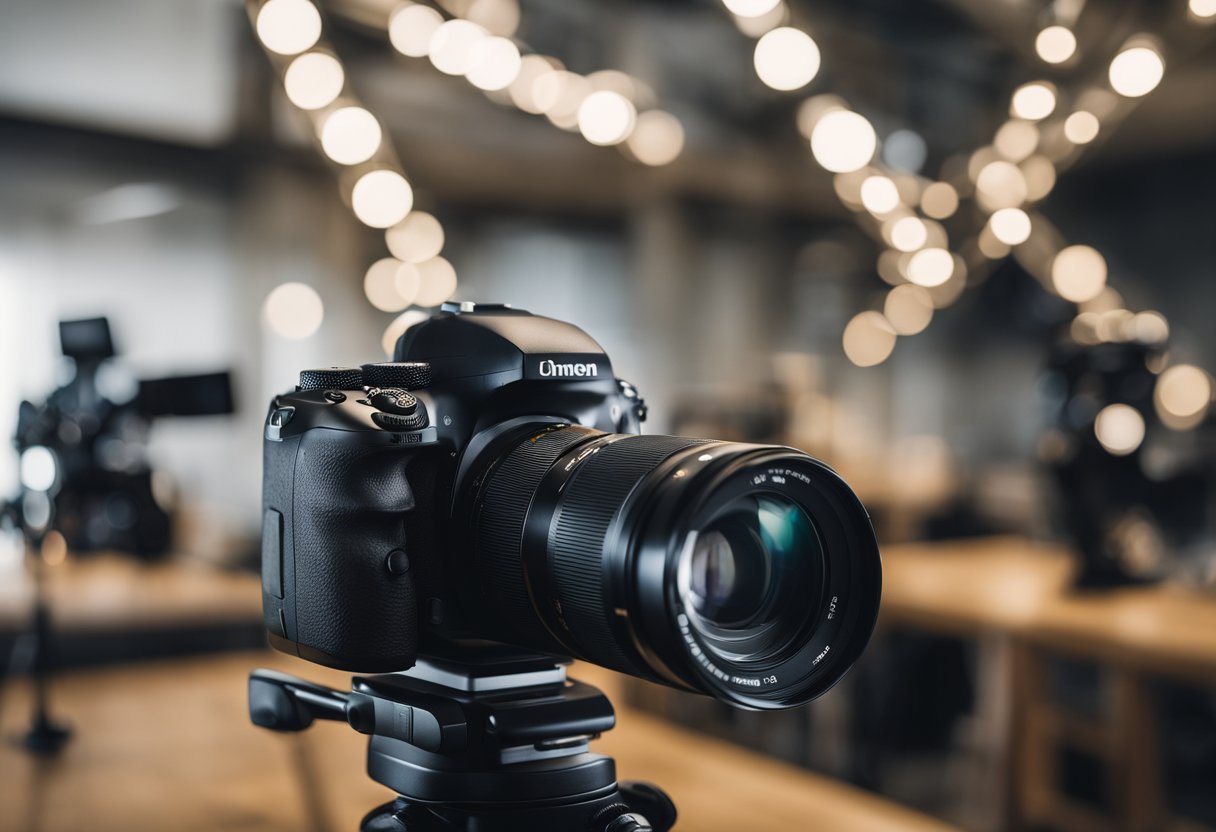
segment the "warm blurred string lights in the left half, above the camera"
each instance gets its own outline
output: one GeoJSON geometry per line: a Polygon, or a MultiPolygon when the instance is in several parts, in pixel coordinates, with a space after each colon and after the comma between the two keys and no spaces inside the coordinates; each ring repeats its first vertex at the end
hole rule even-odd
{"type": "MultiPolygon", "coordinates": [[[[576,130],[593,145],[617,146],[642,164],[664,165],[680,156],[683,127],[653,107],[647,84],[615,69],[580,75],[554,57],[520,51],[512,39],[517,0],[441,5],[450,18],[432,6],[398,5],[383,22],[393,47],[428,57],[438,71],[463,75],[491,100],[544,114],[556,127],[576,130]]],[[[443,225],[412,210],[412,187],[381,122],[350,90],[340,58],[323,38],[319,7],[311,0],[247,0],[247,9],[287,100],[305,114],[319,150],[339,169],[355,217],[385,230],[390,255],[367,269],[364,291],[377,309],[400,313],[382,339],[390,353],[401,332],[424,316],[409,307],[435,307],[456,291],[456,271],[440,255],[443,225]]],[[[323,305],[311,287],[287,283],[268,296],[264,317],[277,335],[305,338],[320,327],[323,305]]]]}

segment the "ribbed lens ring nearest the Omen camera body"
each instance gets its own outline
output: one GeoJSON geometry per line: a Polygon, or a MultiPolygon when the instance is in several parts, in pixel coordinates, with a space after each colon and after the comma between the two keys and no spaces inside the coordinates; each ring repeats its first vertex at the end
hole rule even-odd
{"type": "Polygon", "coordinates": [[[561,428],[524,439],[490,473],[478,501],[477,546],[483,598],[490,611],[485,620],[511,626],[527,643],[553,645],[553,639],[528,597],[520,549],[528,506],[541,478],[572,445],[596,435],[585,429],[561,428]]]}

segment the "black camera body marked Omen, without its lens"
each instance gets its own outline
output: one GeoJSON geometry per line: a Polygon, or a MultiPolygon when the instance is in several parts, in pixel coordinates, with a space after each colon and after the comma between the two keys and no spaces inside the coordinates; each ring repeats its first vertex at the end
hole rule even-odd
{"type": "Polygon", "coordinates": [[[264,432],[271,642],[365,673],[410,668],[428,640],[499,640],[479,620],[494,588],[472,580],[471,516],[503,448],[546,425],[637,433],[646,416],[590,336],[503,304],[444,304],[394,359],[303,372],[264,432]]]}

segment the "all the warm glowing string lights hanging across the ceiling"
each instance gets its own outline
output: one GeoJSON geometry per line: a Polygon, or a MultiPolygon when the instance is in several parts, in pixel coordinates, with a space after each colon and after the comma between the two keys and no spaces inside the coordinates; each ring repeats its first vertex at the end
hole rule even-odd
{"type": "MultiPolygon", "coordinates": [[[[665,164],[679,156],[683,145],[679,120],[653,108],[638,114],[640,105],[653,100],[644,84],[618,71],[579,75],[551,56],[522,51],[512,38],[519,22],[517,0],[441,0],[441,5],[451,17],[417,2],[395,7],[384,23],[394,49],[410,57],[428,57],[440,72],[463,75],[492,100],[544,114],[592,144],[619,146],[642,163],[665,164]]],[[[756,38],[754,66],[762,83],[794,91],[815,79],[821,67],[818,46],[806,32],[784,24],[788,9],[783,0],[724,0],[724,5],[739,29],[756,38]]],[[[1192,19],[1216,16],[1210,5],[1216,6],[1216,0],[1190,0],[1192,19]]],[[[383,141],[379,122],[348,89],[340,61],[322,40],[317,7],[310,0],[250,0],[249,9],[288,100],[310,117],[320,150],[343,169],[356,218],[385,229],[392,257],[367,270],[364,286],[368,300],[377,309],[401,311],[451,297],[456,274],[440,255],[443,226],[430,214],[411,212],[409,180],[383,141]]],[[[1071,22],[1055,19],[1036,35],[1035,49],[1045,63],[1075,62],[1077,41],[1071,22]]],[[[1099,133],[1109,133],[1126,118],[1135,103],[1160,84],[1164,73],[1159,41],[1139,34],[1110,61],[1109,89],[1090,86],[1070,107],[1064,106],[1065,95],[1055,84],[1028,81],[1012,94],[1010,117],[992,142],[970,153],[964,165],[956,165],[953,175],[945,175],[944,168],[939,180],[878,161],[880,142],[873,124],[843,99],[816,95],[805,100],[798,128],[815,161],[834,175],[841,203],[884,244],[878,274],[891,285],[882,311],[865,310],[845,326],[846,356],[858,366],[882,364],[899,336],[922,332],[935,310],[959,297],[969,271],[991,269],[1010,253],[1040,276],[1045,287],[1079,304],[1073,327],[1079,339],[1138,337],[1137,332],[1155,336],[1161,327],[1167,332],[1159,313],[1135,315],[1121,305],[1100,313],[1087,308],[1099,297],[1110,305],[1114,289],[1105,286],[1105,260],[1086,246],[1045,246],[1059,235],[1054,229],[1036,234],[1049,224],[1031,208],[1052,191],[1058,173],[1075,164],[1099,133]],[[942,221],[956,215],[964,201],[974,203],[981,227],[967,243],[952,247],[942,221]],[[1124,321],[1119,326],[1110,324],[1116,313],[1124,321]],[[1159,320],[1161,326],[1137,328],[1136,321],[1149,320],[1159,320]]],[[[921,141],[923,157],[923,140],[910,131],[893,133],[886,141],[894,144],[901,133],[921,141]]],[[[272,292],[266,302],[272,328],[287,337],[311,335],[323,311],[320,298],[310,292],[297,283],[272,292]],[[276,314],[288,308],[293,315],[276,314]],[[288,317],[295,324],[274,326],[288,317]],[[309,327],[300,321],[315,324],[309,327]]],[[[384,333],[385,350],[422,315],[409,310],[394,320],[384,333]]]]}

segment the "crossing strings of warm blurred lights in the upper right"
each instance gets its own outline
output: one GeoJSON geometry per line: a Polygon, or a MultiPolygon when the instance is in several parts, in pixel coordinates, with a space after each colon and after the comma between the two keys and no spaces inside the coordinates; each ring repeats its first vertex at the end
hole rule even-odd
{"type": "MultiPolygon", "coordinates": [[[[724,5],[745,34],[758,38],[754,63],[761,81],[792,91],[814,80],[821,66],[818,47],[809,34],[786,24],[788,10],[782,0],[724,0],[724,5]]],[[[1216,0],[1190,0],[1188,13],[1193,22],[1216,18],[1216,0]]],[[[1075,61],[1076,36],[1065,24],[1071,22],[1057,19],[1038,32],[1035,49],[1042,61],[1064,66],[1075,61]]],[[[989,270],[1010,253],[1048,291],[1077,304],[1071,327],[1077,342],[1164,343],[1169,337],[1164,315],[1124,308],[1121,296],[1107,286],[1102,254],[1088,246],[1065,246],[1054,226],[1031,208],[1099,131],[1109,133],[1156,89],[1165,74],[1162,51],[1150,35],[1130,38],[1107,67],[1109,89],[1090,85],[1070,108],[1063,106],[1064,96],[1051,81],[1023,84],[1010,96],[1010,118],[992,144],[958,165],[962,175],[944,175],[939,181],[876,161],[879,141],[873,125],[838,96],[823,94],[804,101],[798,128],[812,157],[834,174],[837,195],[862,227],[888,247],[879,255],[878,274],[891,288],[882,311],[863,310],[848,322],[841,337],[845,355],[858,366],[882,364],[899,336],[922,332],[935,309],[957,299],[969,270],[989,270]],[[983,225],[959,247],[959,254],[951,251],[940,220],[953,217],[962,201],[975,204],[983,225]]],[[[1211,399],[1211,377],[1201,369],[1161,367],[1154,403],[1166,426],[1194,427],[1211,399]]],[[[1128,432],[1135,433],[1132,421],[1120,414],[1096,421],[1094,429],[1108,450],[1126,454],[1139,445],[1139,439],[1128,442],[1128,432]],[[1115,435],[1122,442],[1113,440],[1115,435]]],[[[1142,439],[1143,423],[1141,428],[1142,439]]]]}

